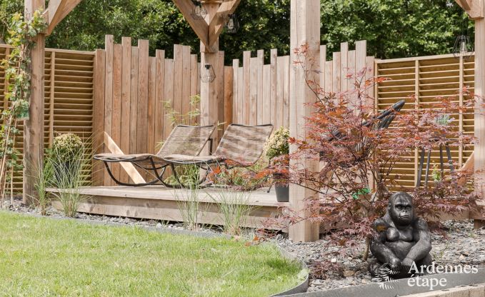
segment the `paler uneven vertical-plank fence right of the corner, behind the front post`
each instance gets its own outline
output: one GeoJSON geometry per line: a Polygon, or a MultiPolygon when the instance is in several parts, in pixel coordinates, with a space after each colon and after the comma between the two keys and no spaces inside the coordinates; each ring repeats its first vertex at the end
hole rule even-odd
{"type": "MultiPolygon", "coordinates": [[[[239,124],[273,124],[289,127],[289,80],[294,61],[289,56],[277,56],[271,49],[270,63],[264,64],[264,51],[244,51],[242,65],[239,59],[233,60],[233,111],[232,120],[239,124]]],[[[320,48],[320,86],[326,92],[346,91],[354,87],[353,81],[346,79],[364,67],[373,76],[374,57],[366,56],[366,41],[356,41],[355,50],[349,44],[341,44],[341,51],[332,54],[326,61],[326,46],[320,48]]],[[[374,96],[374,90],[370,91],[374,96]]]]}

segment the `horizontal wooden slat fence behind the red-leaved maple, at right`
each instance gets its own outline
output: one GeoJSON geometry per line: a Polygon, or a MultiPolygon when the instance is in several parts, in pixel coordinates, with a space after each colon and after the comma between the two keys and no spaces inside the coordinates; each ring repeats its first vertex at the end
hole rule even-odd
{"type": "MultiPolygon", "coordinates": [[[[423,56],[409,59],[376,60],[376,76],[391,80],[376,86],[377,109],[386,109],[401,99],[406,99],[404,111],[430,109],[439,97],[453,97],[463,106],[469,100],[460,90],[468,86],[474,91],[474,60],[455,59],[453,55],[423,56]]],[[[474,134],[474,111],[451,115],[457,131],[474,134]]],[[[461,168],[473,152],[474,147],[451,146],[451,156],[461,168]]],[[[411,156],[413,161],[401,160],[392,172],[399,185],[413,187],[418,175],[418,150],[411,156]]],[[[446,160],[446,154],[445,154],[446,160]]],[[[439,168],[439,149],[431,151],[431,168],[439,168]]],[[[447,168],[445,169],[447,171],[447,168]]],[[[424,171],[421,181],[424,181],[424,171]]]]}

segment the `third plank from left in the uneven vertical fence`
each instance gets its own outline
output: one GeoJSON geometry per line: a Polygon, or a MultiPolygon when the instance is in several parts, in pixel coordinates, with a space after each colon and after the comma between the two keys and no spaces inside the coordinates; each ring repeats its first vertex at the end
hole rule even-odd
{"type": "MultiPolygon", "coordinates": [[[[113,110],[111,114],[111,138],[116,144],[121,143],[121,70],[123,48],[121,44],[113,46],[113,110]]],[[[113,163],[111,171],[116,179],[121,180],[121,167],[113,163]]]]}

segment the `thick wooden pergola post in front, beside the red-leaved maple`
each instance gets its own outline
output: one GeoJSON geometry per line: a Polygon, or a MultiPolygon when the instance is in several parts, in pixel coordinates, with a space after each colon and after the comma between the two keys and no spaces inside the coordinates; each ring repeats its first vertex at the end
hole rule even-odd
{"type": "MultiPolygon", "coordinates": [[[[298,48],[303,44],[308,44],[309,58],[314,58],[317,63],[315,69],[319,69],[319,51],[320,51],[320,0],[291,0],[291,49],[298,48]]],[[[311,108],[304,106],[306,102],[313,102],[315,100],[314,94],[306,86],[305,74],[301,66],[295,65],[292,61],[296,60],[296,56],[291,51],[291,70],[290,70],[290,136],[291,137],[306,137],[305,116],[310,116],[311,108]]],[[[303,57],[301,57],[303,59],[303,57]]],[[[311,74],[312,79],[319,83],[319,74],[311,74]]],[[[291,146],[290,151],[295,151],[296,146],[291,146]]],[[[318,161],[303,161],[298,162],[299,166],[304,166],[311,171],[318,170],[318,161]]],[[[291,165],[296,165],[295,161],[291,161],[291,165]]],[[[290,185],[290,207],[298,216],[305,218],[304,221],[296,223],[289,227],[289,238],[293,241],[316,241],[319,239],[319,225],[311,223],[308,220],[310,212],[306,208],[305,202],[307,198],[318,198],[318,193],[311,191],[299,185],[290,185]]]]}

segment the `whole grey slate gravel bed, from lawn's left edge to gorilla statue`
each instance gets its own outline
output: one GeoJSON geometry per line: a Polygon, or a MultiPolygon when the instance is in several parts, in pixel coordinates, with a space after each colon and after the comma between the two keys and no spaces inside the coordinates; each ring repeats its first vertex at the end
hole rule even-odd
{"type": "MultiPolygon", "coordinates": [[[[29,208],[21,203],[21,199],[15,199],[14,204],[9,206],[11,211],[20,213],[39,214],[34,208],[29,208]]],[[[54,218],[65,218],[64,213],[49,207],[47,216],[54,218]]],[[[156,228],[175,228],[184,230],[181,223],[144,220],[136,218],[99,216],[87,213],[78,213],[76,218],[97,221],[100,223],[121,223],[127,226],[150,226],[156,228]]],[[[431,256],[436,264],[469,264],[485,266],[485,229],[474,230],[473,221],[446,221],[445,228],[449,231],[447,236],[432,234],[431,256]]],[[[202,228],[203,232],[219,232],[216,229],[202,228]]],[[[327,273],[326,278],[317,278],[310,273],[309,292],[328,290],[331,288],[344,288],[371,283],[371,276],[367,272],[367,262],[363,261],[362,253],[364,243],[354,248],[348,248],[346,255],[341,256],[341,246],[329,246],[329,240],[323,236],[319,241],[309,243],[294,243],[289,241],[286,236],[279,234],[271,241],[279,245],[284,250],[303,260],[309,268],[313,268],[315,263],[323,260],[322,255],[332,263],[338,263],[341,273],[327,273]]]]}

